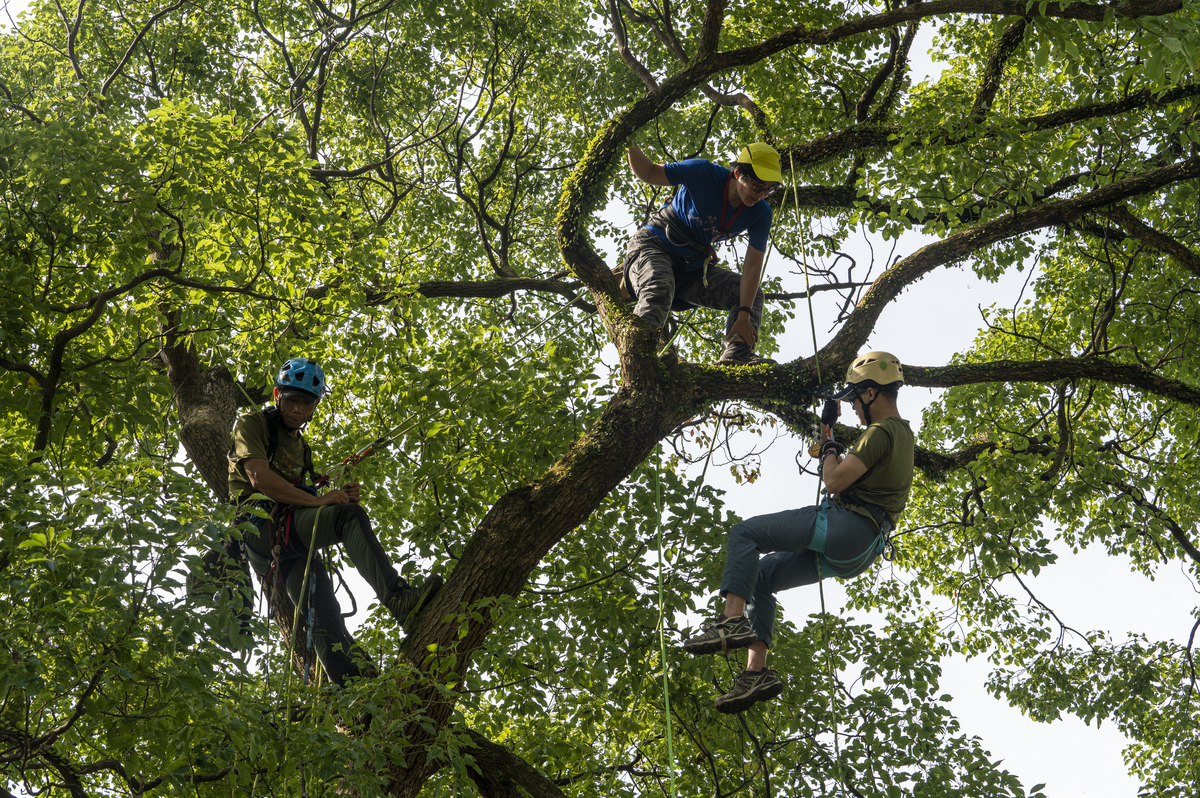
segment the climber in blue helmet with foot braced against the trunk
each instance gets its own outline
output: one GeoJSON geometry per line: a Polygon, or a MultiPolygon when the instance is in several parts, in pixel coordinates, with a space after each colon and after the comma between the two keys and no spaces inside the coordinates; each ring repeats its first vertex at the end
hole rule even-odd
{"type": "MultiPolygon", "coordinates": [[[[359,504],[358,482],[318,494],[313,485],[301,481],[306,476],[317,481],[312,452],[301,430],[324,395],[322,367],[313,360],[293,358],[283,364],[275,379],[275,406],[246,413],[234,425],[229,494],[238,497],[239,504],[248,502],[254,493],[270,499],[264,503],[270,518],[251,517],[258,533],[245,538],[247,557],[264,584],[272,580],[276,584],[282,583],[293,604],[307,606],[301,599],[310,547],[319,551],[342,544],[379,602],[401,628],[407,628],[442,587],[442,577],[432,575],[413,587],[396,572],[359,504]]],[[[328,581],[318,583],[329,584],[328,581]]],[[[331,592],[331,587],[326,589],[331,592]]],[[[332,596],[310,600],[319,607],[323,600],[332,600],[332,596]]],[[[312,647],[325,672],[340,682],[344,667],[331,666],[329,634],[322,628],[320,613],[316,613],[316,622],[312,647]]]]}

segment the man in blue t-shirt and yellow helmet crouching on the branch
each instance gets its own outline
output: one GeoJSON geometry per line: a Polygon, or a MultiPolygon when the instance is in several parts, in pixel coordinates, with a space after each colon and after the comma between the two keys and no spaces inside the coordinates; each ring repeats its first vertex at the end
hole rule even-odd
{"type": "Polygon", "coordinates": [[[779,188],[779,152],[769,144],[742,149],[733,169],[690,158],[654,163],[634,142],[629,166],[652,186],[677,186],[671,202],[650,215],[625,251],[622,287],[636,300],[634,314],[655,326],[672,306],[728,311],[721,364],[774,362],[756,355],[763,294],[758,283],[770,233],[770,205],[779,188]],[[713,245],[748,232],[742,274],[716,265],[713,245]]]}

